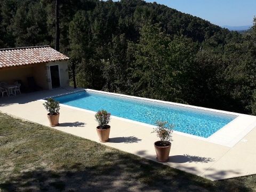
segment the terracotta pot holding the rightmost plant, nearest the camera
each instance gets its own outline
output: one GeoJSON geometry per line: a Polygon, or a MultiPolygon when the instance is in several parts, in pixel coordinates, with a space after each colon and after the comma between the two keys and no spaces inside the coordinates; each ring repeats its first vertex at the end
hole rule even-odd
{"type": "Polygon", "coordinates": [[[156,159],[159,162],[167,162],[169,161],[169,154],[170,154],[172,143],[170,143],[170,145],[165,147],[162,147],[161,145],[159,145],[159,143],[161,143],[161,141],[156,141],[154,143],[155,150],[156,150],[156,159]]]}

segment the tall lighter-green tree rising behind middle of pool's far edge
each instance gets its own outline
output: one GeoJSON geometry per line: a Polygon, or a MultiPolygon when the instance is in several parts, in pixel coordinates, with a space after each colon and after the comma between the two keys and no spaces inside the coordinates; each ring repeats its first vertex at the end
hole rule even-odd
{"type": "Polygon", "coordinates": [[[170,42],[170,37],[161,31],[159,25],[147,23],[140,30],[139,42],[129,44],[129,51],[134,55],[131,66],[133,94],[161,99],[159,84],[166,74],[163,66],[168,64],[167,47],[170,42]]]}

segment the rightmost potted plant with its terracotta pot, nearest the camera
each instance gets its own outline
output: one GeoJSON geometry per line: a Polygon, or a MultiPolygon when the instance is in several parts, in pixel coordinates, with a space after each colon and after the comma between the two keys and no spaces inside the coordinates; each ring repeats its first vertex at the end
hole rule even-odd
{"type": "Polygon", "coordinates": [[[159,162],[169,161],[169,154],[171,149],[173,125],[166,126],[167,122],[157,121],[157,127],[154,128],[154,133],[157,134],[157,137],[160,139],[156,141],[155,150],[156,150],[156,159],[159,162]]]}

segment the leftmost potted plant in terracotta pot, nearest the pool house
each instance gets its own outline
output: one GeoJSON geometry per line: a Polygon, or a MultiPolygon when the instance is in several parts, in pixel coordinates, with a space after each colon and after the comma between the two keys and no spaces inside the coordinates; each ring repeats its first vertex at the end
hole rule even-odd
{"type": "Polygon", "coordinates": [[[43,103],[43,105],[45,109],[49,112],[49,114],[47,114],[47,117],[49,119],[50,125],[58,126],[60,117],[60,103],[52,98],[49,98],[45,103],[43,103]]]}

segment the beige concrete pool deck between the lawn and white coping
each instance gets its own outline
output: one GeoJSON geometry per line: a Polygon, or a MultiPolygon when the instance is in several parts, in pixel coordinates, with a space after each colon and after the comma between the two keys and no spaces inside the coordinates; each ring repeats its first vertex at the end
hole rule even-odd
{"type": "MultiPolygon", "coordinates": [[[[49,126],[41,99],[70,91],[74,90],[56,89],[0,98],[0,111],[49,126]]],[[[248,117],[255,121],[250,124],[256,123],[256,117],[248,117]]],[[[158,139],[151,133],[151,127],[119,118],[112,118],[110,125],[110,141],[102,144],[156,161],[154,141],[158,139]]],[[[60,126],[54,129],[99,142],[96,126],[93,113],[62,105],[60,126]]],[[[174,133],[170,161],[163,164],[211,180],[256,174],[255,138],[255,127],[232,147],[174,133]]]]}

